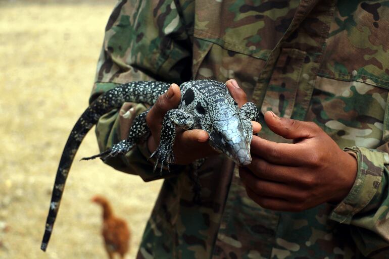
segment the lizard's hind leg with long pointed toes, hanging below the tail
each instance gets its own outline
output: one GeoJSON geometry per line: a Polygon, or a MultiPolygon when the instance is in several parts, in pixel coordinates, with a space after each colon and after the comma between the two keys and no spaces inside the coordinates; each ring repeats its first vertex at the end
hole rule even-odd
{"type": "Polygon", "coordinates": [[[136,144],[145,141],[150,135],[150,129],[146,123],[146,116],[149,113],[150,109],[151,108],[135,117],[132,126],[129,130],[127,139],[116,143],[114,146],[112,146],[112,148],[109,148],[100,154],[96,154],[95,156],[88,158],[83,158],[82,160],[101,158],[103,161],[105,161],[109,157],[116,157],[118,154],[126,154],[136,144]]]}

